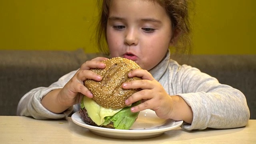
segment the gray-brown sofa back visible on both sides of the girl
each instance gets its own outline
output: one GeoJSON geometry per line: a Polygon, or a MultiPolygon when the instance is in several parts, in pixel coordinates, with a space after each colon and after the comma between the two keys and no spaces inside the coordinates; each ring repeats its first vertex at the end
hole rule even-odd
{"type": "MultiPolygon", "coordinates": [[[[0,51],[0,115],[16,115],[20,98],[29,90],[49,86],[100,54],[76,51],[0,51]]],[[[191,55],[177,58],[217,78],[220,83],[241,90],[256,119],[256,55],[191,55]]]]}

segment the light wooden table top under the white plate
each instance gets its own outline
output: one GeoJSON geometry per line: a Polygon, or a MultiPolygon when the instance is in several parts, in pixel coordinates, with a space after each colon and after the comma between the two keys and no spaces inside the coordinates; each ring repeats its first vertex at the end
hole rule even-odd
{"type": "Polygon", "coordinates": [[[23,116],[0,116],[1,144],[256,144],[256,120],[246,127],[228,130],[195,130],[180,127],[163,135],[139,140],[106,138],[68,120],[35,120],[23,116]]]}

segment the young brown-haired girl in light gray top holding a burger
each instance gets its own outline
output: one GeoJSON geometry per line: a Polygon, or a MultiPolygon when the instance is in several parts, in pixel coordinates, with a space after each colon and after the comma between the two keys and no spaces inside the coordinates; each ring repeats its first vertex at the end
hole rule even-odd
{"type": "MultiPolygon", "coordinates": [[[[142,100],[132,112],[151,109],[160,118],[184,120],[186,130],[245,126],[250,113],[242,92],[170,58],[170,47],[188,47],[187,18],[188,0],[103,0],[100,50],[109,52],[111,58],[133,60],[144,69],[128,74],[142,80],[122,84],[125,89],[142,89],[125,103],[142,100]]],[[[102,80],[90,68],[105,68],[100,60],[106,59],[89,60],[48,88],[31,90],[20,100],[18,115],[58,119],[78,111],[83,95],[93,97],[83,81],[102,80]]]]}

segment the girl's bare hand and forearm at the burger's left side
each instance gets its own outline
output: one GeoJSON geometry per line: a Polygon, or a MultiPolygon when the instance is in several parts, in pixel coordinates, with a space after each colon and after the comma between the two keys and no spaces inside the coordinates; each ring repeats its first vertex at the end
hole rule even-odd
{"type": "Polygon", "coordinates": [[[90,78],[100,81],[102,77],[92,72],[91,68],[105,68],[101,60],[108,58],[98,57],[86,61],[76,74],[66,83],[63,88],[52,90],[41,100],[41,104],[49,111],[56,114],[64,112],[74,104],[81,102],[84,95],[92,98],[92,93],[84,86],[84,80],[90,78]]]}

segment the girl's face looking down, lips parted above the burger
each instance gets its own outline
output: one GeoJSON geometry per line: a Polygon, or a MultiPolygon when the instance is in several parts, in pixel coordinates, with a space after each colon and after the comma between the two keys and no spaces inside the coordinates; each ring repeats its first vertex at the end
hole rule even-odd
{"type": "Polygon", "coordinates": [[[150,70],[166,56],[172,22],[157,2],[111,0],[106,33],[111,57],[128,58],[150,70]]]}

